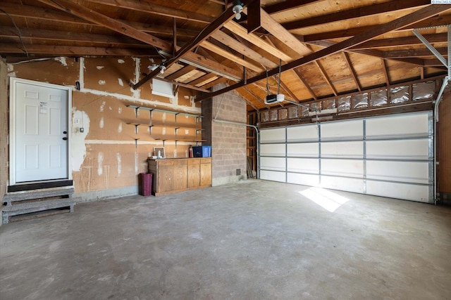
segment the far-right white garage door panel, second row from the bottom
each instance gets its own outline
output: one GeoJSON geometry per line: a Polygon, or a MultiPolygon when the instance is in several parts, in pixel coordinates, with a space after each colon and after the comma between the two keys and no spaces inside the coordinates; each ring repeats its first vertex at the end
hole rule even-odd
{"type": "Polygon", "coordinates": [[[429,183],[429,162],[366,162],[366,178],[405,183],[429,183]]]}

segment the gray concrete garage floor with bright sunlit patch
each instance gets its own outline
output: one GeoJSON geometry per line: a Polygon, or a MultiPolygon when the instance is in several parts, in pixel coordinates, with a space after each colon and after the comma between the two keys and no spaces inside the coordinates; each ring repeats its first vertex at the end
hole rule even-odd
{"type": "Polygon", "coordinates": [[[0,299],[451,299],[450,256],[450,207],[252,180],[1,226],[0,299]]]}

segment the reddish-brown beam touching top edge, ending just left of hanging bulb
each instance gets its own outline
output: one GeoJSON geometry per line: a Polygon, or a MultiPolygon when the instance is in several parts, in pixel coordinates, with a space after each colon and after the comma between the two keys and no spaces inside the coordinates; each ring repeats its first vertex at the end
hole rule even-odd
{"type": "Polygon", "coordinates": [[[159,6],[151,4],[148,1],[136,0],[87,0],[93,3],[104,4],[108,6],[120,7],[132,11],[140,11],[144,13],[151,13],[154,15],[163,15],[169,18],[177,18],[179,20],[187,20],[192,22],[201,22],[209,24],[214,21],[214,18],[202,13],[194,13],[192,11],[183,11],[180,8],[171,8],[168,6],[159,6]]]}

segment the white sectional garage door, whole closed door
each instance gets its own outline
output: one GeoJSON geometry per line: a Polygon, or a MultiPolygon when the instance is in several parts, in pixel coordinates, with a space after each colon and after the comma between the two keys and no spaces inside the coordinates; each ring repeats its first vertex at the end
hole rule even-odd
{"type": "Polygon", "coordinates": [[[432,112],[262,129],[260,178],[433,203],[432,112]]]}

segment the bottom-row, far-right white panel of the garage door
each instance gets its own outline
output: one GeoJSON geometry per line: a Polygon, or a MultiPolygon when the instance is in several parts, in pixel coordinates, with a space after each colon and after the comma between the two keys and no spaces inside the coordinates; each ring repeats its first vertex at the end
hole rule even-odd
{"type": "Polygon", "coordinates": [[[433,203],[430,185],[366,181],[366,194],[402,200],[433,203]]]}

